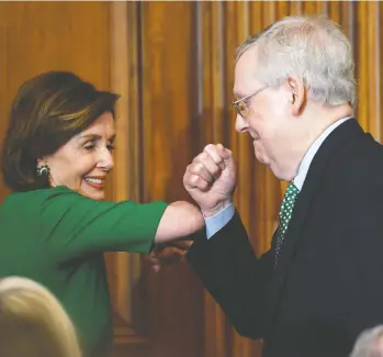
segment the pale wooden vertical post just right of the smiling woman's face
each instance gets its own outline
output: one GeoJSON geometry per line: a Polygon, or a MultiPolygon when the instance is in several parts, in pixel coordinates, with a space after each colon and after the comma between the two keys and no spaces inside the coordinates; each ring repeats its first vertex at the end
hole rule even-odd
{"type": "MultiPolygon", "coordinates": [[[[121,96],[116,105],[117,149],[113,200],[140,201],[140,108],[139,108],[139,5],[136,2],[110,4],[111,88],[121,96]]],[[[137,283],[142,257],[111,253],[109,276],[114,306],[114,354],[145,356],[147,339],[137,306],[137,283]]]]}

